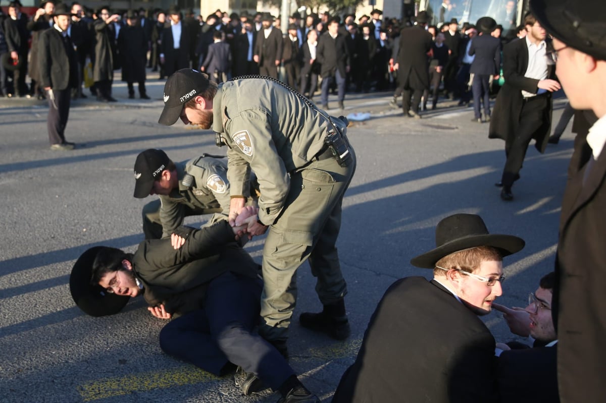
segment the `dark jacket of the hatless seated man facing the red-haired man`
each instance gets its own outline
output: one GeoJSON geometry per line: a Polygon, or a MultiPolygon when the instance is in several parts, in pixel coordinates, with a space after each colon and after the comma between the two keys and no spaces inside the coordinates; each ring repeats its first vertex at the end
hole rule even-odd
{"type": "Polygon", "coordinates": [[[508,350],[497,359],[501,403],[558,403],[556,347],[508,350]]]}

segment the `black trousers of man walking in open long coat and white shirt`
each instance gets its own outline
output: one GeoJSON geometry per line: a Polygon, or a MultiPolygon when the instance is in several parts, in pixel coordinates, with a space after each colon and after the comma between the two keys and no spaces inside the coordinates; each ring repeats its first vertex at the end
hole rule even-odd
{"type": "Polygon", "coordinates": [[[508,137],[505,140],[505,168],[501,182],[504,188],[511,188],[513,182],[519,178],[519,172],[522,169],[522,163],[526,157],[528,144],[532,140],[536,131],[544,125],[545,109],[551,100],[547,96],[534,96],[524,100],[522,113],[520,114],[520,123],[515,136],[508,137]]]}

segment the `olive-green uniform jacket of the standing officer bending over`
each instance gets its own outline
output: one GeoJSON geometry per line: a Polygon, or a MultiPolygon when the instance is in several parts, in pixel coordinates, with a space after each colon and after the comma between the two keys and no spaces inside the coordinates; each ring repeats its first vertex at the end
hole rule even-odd
{"type": "MultiPolygon", "coordinates": [[[[258,177],[259,220],[275,223],[290,188],[290,172],[307,165],[324,147],[332,127],[318,110],[267,79],[225,82],[213,100],[213,130],[229,146],[231,195],[248,192],[250,169],[258,177]]],[[[345,133],[344,123],[332,118],[345,133]]]]}

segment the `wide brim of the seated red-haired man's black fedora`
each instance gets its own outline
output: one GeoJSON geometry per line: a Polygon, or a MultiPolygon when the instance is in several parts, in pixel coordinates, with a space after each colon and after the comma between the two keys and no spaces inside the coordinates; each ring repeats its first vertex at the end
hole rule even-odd
{"type": "Polygon", "coordinates": [[[491,246],[499,249],[501,257],[505,257],[521,251],[522,248],[524,248],[524,245],[524,240],[514,235],[470,235],[469,237],[462,237],[445,243],[435,249],[431,249],[429,252],[412,258],[410,264],[416,267],[422,267],[423,269],[433,269],[441,258],[471,247],[491,246]]]}

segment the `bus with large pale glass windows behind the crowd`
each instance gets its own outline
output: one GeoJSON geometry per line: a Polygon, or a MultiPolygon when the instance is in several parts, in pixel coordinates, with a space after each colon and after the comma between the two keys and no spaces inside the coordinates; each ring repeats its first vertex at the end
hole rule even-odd
{"type": "Polygon", "coordinates": [[[419,10],[427,11],[430,24],[438,27],[453,18],[461,27],[464,22],[476,24],[478,19],[489,16],[502,25],[503,37],[514,37],[515,28],[528,11],[528,0],[421,0],[419,10]]]}

